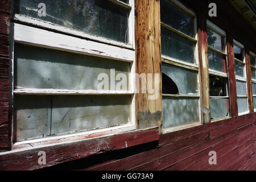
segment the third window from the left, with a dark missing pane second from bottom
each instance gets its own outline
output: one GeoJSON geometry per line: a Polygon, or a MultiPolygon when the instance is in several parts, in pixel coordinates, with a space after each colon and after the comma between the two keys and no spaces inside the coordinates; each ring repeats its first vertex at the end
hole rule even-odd
{"type": "Polygon", "coordinates": [[[226,34],[207,20],[210,118],[229,117],[229,84],[226,62],[226,34]]]}

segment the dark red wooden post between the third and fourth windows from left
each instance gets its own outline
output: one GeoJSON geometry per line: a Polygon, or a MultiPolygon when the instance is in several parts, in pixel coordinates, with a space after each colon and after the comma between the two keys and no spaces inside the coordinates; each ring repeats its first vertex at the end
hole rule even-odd
{"type": "Polygon", "coordinates": [[[230,90],[230,110],[231,116],[235,117],[238,115],[237,107],[237,84],[236,84],[236,68],[234,63],[234,44],[233,36],[230,34],[226,35],[227,50],[228,50],[228,76],[229,76],[229,90],[230,90]]]}

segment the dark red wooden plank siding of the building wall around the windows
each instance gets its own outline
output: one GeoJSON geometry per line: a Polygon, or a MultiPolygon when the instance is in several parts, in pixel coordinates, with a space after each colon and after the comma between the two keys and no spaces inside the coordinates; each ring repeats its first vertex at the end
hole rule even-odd
{"type": "MultiPolygon", "coordinates": [[[[140,0],[137,0],[140,1],[140,0]]],[[[159,0],[150,0],[159,2],[159,0]]],[[[207,16],[208,5],[217,4],[210,18],[246,48],[255,51],[256,34],[228,1],[184,0],[207,16]]],[[[145,3],[146,5],[147,3],[145,3]]],[[[135,16],[136,16],[135,12],[135,16]]],[[[147,14],[147,12],[142,12],[147,14]]],[[[10,0],[0,2],[0,149],[8,150],[11,138],[9,86],[10,0]]],[[[153,28],[154,29],[154,28],[153,28]]],[[[147,26],[141,28],[147,31],[147,26]],[[146,27],[146,28],[145,28],[146,27]]],[[[151,31],[150,31],[151,32],[151,31]]],[[[145,36],[145,39],[150,36],[145,36]]],[[[145,53],[147,55],[147,53],[145,53]]],[[[148,106],[149,107],[149,106],[148,106]]],[[[160,107],[160,106],[158,106],[160,107]]],[[[158,109],[154,109],[157,111],[158,109]]],[[[159,117],[155,119],[159,122],[159,117]]],[[[185,130],[161,134],[158,141],[140,144],[44,169],[70,170],[256,170],[256,114],[250,113],[185,130]],[[209,165],[209,151],[217,152],[217,165],[209,165]]],[[[61,152],[58,155],[63,155],[61,152]]],[[[28,160],[29,162],[29,160],[28,160]]]]}

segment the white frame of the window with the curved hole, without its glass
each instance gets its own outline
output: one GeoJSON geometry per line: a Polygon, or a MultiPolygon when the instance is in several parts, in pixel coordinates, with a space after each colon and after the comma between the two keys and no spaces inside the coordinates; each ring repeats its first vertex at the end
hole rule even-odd
{"type": "Polygon", "coordinates": [[[181,126],[174,126],[174,127],[168,127],[166,129],[162,128],[162,133],[170,133],[173,131],[177,131],[177,130],[183,130],[183,129],[187,129],[189,127],[195,127],[195,126],[199,126],[202,125],[202,116],[201,116],[201,97],[200,97],[200,93],[201,93],[201,88],[200,88],[200,70],[199,70],[199,50],[198,50],[198,35],[197,35],[197,21],[196,21],[196,13],[195,11],[191,10],[191,9],[187,9],[186,6],[183,5],[183,3],[177,1],[177,0],[168,0],[171,3],[173,3],[174,5],[177,6],[177,8],[180,8],[181,10],[184,11],[184,13],[187,13],[189,15],[191,15],[194,19],[193,23],[194,23],[194,31],[195,31],[195,38],[192,38],[191,36],[188,36],[187,34],[184,34],[183,32],[180,32],[179,30],[176,30],[175,28],[172,28],[171,26],[168,26],[167,24],[160,22],[160,26],[164,27],[172,32],[174,32],[177,35],[182,36],[183,38],[186,38],[188,40],[191,40],[192,42],[195,43],[195,63],[187,63],[185,61],[182,60],[178,60],[178,59],[174,59],[170,56],[166,56],[166,55],[162,55],[161,54],[161,61],[162,63],[165,64],[169,64],[169,65],[173,65],[176,67],[180,67],[180,68],[185,68],[191,71],[196,71],[197,72],[197,89],[199,90],[197,95],[188,95],[188,94],[163,94],[162,93],[162,97],[170,97],[170,98],[197,98],[198,102],[199,102],[199,122],[196,123],[190,123],[190,124],[185,124],[185,125],[181,125],[181,126]]]}

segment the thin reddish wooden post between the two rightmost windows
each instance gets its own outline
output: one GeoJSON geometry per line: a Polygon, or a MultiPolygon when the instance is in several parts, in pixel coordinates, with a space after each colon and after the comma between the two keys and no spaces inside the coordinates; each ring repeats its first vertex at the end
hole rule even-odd
{"type": "Polygon", "coordinates": [[[245,63],[246,63],[246,79],[247,79],[247,98],[250,113],[254,112],[253,109],[253,90],[251,87],[251,62],[249,49],[245,48],[245,63]]]}

